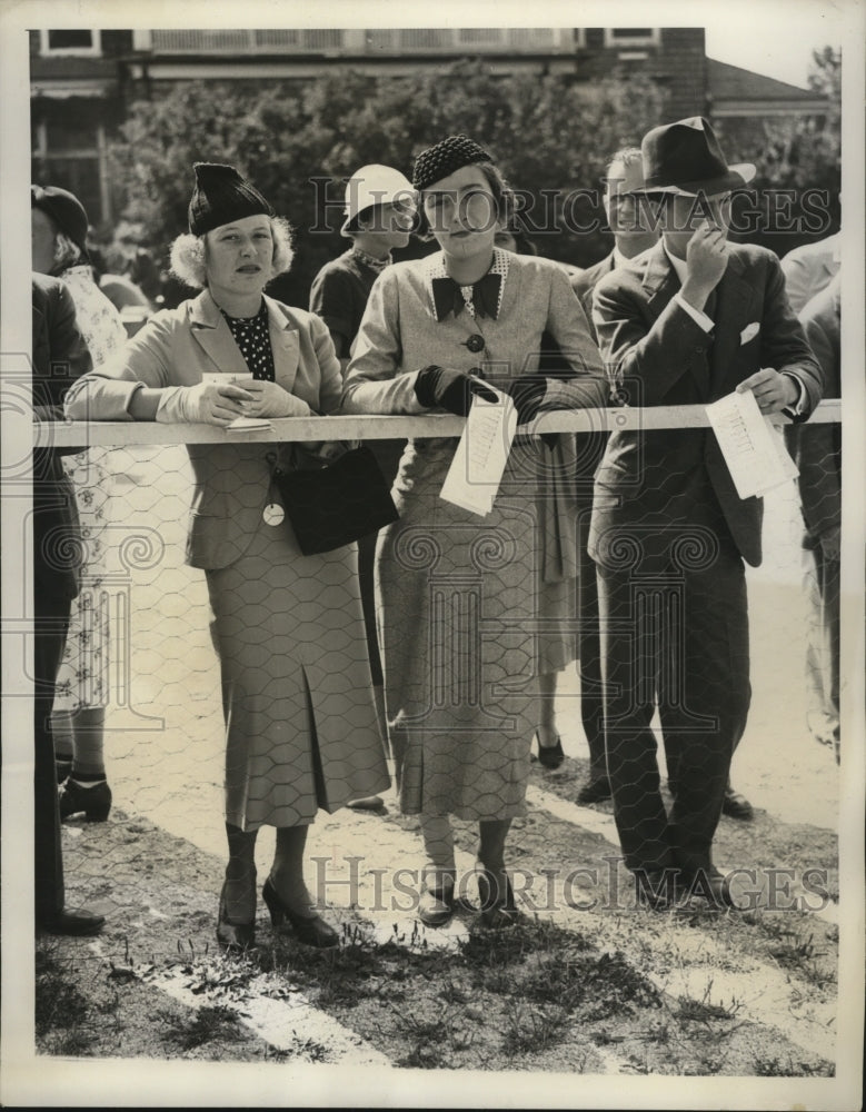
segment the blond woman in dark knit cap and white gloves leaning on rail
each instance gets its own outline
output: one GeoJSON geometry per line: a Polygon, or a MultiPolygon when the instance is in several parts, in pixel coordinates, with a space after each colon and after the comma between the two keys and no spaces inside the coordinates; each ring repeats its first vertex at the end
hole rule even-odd
{"type": "MultiPolygon", "coordinates": [[[[233,167],[196,163],[189,235],[171,248],[178,277],[203,287],[158,312],[122,357],[70,391],[73,418],[203,421],[301,417],[339,405],[340,365],[325,324],[263,295],[291,262],[288,225],[233,167]],[[213,381],[222,374],[226,381],[213,381]],[[240,377],[241,385],[232,385],[240,377]]],[[[338,942],[303,882],[307,827],[319,807],[388,787],[376,728],[355,546],[300,553],[271,481],[275,457],[302,445],[190,444],[196,493],[188,559],[205,569],[226,717],[229,863],[217,937],[255,942],[256,836],[277,828],[262,895],[315,946],[338,942]]]]}

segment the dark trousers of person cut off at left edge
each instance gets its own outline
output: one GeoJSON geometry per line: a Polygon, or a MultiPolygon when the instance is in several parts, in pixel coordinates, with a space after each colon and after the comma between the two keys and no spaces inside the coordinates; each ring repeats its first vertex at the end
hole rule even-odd
{"type": "Polygon", "coordinates": [[[63,861],[60,851],[60,812],[54,770],[54,739],[51,735],[51,708],[54,682],[66,647],[71,600],[51,594],[43,584],[34,592],[33,637],[33,842],[36,919],[63,910],[63,861]]]}

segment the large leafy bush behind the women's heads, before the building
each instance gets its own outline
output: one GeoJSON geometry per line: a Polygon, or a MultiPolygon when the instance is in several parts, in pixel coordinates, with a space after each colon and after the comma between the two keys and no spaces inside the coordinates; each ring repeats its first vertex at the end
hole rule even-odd
{"type": "Polygon", "coordinates": [[[464,60],[408,77],[341,70],[302,82],[185,82],[135,102],[110,157],[123,216],[146,227],[163,262],[186,230],[192,163],[237,166],[296,229],[296,264],[276,291],[303,305],[319,267],[347,246],[337,229],[345,180],[358,167],[385,162],[411,177],[421,149],[470,135],[526,191],[540,254],[586,266],[610,238],[600,205],[585,197],[576,207],[569,195],[597,190],[607,156],[663,118],[664,93],[646,78],[496,76],[464,60]]]}

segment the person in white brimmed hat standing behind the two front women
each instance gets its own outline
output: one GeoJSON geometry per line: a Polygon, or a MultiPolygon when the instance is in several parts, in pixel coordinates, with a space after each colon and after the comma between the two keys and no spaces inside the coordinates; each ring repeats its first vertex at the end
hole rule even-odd
{"type": "MultiPolygon", "coordinates": [[[[340,366],[346,369],[358,335],[374,282],[391,261],[395,248],[406,247],[415,222],[415,189],[409,179],[391,166],[362,166],[346,186],[346,209],[340,235],[352,246],[316,275],[310,290],[310,309],[328,326],[340,366]]],[[[369,447],[386,479],[394,481],[405,440],[371,440],[369,447]]],[[[374,694],[379,711],[382,742],[386,741],[382,701],[382,669],[376,635],[376,603],[372,565],[376,534],[358,544],[358,578],[361,588],[367,647],[370,654],[374,694]]],[[[379,796],[352,800],[350,807],[377,810],[379,796]]]]}

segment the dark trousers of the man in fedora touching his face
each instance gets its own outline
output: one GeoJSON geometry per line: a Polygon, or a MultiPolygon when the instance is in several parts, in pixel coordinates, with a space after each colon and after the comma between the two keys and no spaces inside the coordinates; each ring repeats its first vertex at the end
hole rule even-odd
{"type": "Polygon", "coordinates": [[[599,566],[607,770],[630,870],[711,867],[730,758],[751,697],[743,562],[729,538],[701,556],[599,566]],[[668,785],[659,791],[658,706],[668,785]]]}

